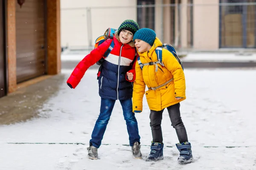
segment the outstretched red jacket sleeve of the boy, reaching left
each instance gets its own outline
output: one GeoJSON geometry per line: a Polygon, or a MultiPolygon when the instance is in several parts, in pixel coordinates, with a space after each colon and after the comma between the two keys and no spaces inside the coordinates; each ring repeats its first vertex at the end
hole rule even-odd
{"type": "Polygon", "coordinates": [[[107,51],[109,45],[111,44],[112,40],[106,40],[101,45],[99,45],[97,48],[93,49],[90,54],[84,57],[78,65],[76,65],[76,68],[73,70],[70,77],[67,79],[67,85],[70,88],[76,88],[76,86],[81,81],[82,77],[84,76],[85,71],[87,69],[94,65],[97,61],[99,61],[104,53],[107,51]]]}

